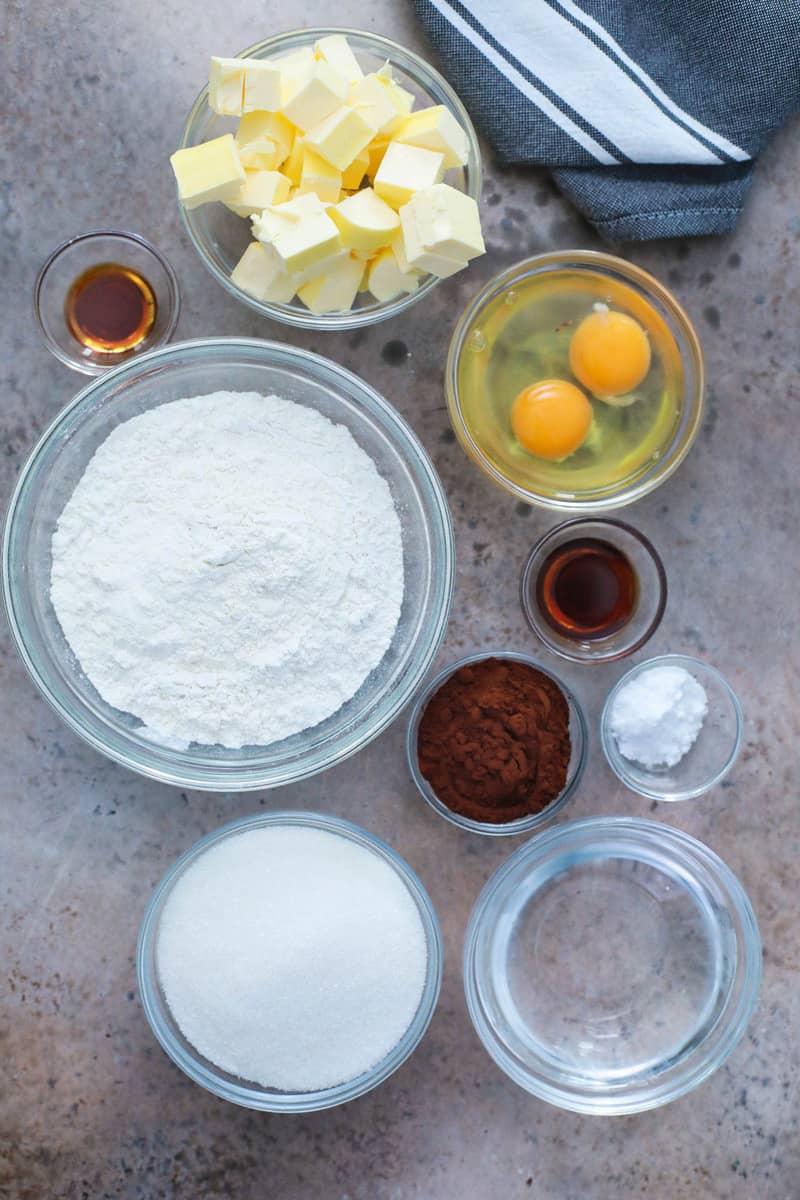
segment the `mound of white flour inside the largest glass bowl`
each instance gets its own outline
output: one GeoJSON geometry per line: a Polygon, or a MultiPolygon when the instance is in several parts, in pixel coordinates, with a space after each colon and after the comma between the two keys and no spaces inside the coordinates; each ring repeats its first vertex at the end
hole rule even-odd
{"type": "Polygon", "coordinates": [[[344,426],[277,396],[162,404],[100,446],[53,535],[89,679],[146,733],[266,744],[349,700],[391,644],[401,524],[344,426]]]}

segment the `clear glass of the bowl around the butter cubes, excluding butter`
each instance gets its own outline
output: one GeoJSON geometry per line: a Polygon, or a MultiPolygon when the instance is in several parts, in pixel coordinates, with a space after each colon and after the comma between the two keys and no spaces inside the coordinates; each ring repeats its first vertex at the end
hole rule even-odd
{"type": "MultiPolygon", "coordinates": [[[[411,50],[404,49],[389,37],[356,29],[297,29],[289,34],[267,37],[264,42],[257,42],[255,46],[241,50],[236,58],[277,58],[302,46],[313,46],[320,37],[326,37],[330,34],[344,34],[365,72],[378,71],[386,61],[391,62],[397,82],[416,97],[415,108],[444,104],[445,108],[450,109],[467,133],[469,157],[465,167],[449,170],[445,180],[479,202],[481,198],[481,151],[469,114],[446,79],[443,79],[438,71],[411,50]]],[[[209,89],[204,86],[188,114],[179,149],[198,145],[198,143],[207,142],[210,138],[218,138],[223,133],[233,133],[236,130],[236,118],[219,116],[211,110],[209,89]]],[[[235,216],[224,204],[203,204],[197,209],[187,210],[180,204],[180,200],[178,203],[192,244],[204,266],[213,275],[215,280],[242,304],[260,312],[264,317],[282,320],[287,325],[300,325],[303,329],[356,329],[360,325],[372,325],[404,312],[413,304],[428,295],[439,282],[435,275],[428,275],[422,280],[416,292],[383,302],[362,293],[356,299],[356,307],[350,312],[330,312],[321,316],[309,312],[296,299],[290,304],[255,300],[236,287],[230,278],[236,263],[248,242],[252,241],[249,221],[235,216]]]]}

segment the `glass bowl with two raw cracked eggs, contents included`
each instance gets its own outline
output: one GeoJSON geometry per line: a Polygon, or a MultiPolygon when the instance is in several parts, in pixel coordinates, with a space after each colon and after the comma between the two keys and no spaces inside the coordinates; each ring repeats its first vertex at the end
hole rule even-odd
{"type": "Polygon", "coordinates": [[[445,376],[462,446],[519,500],[620,508],[668,479],[703,415],[703,356],[675,298],[597,251],[540,254],[462,314],[445,376]]]}

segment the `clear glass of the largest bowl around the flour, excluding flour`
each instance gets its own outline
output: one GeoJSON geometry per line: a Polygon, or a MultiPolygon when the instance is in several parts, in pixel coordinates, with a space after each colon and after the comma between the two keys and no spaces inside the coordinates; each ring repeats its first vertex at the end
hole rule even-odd
{"type": "Polygon", "coordinates": [[[210,791],[273,787],[341,762],[393,721],[431,666],[453,589],[447,502],[405,421],[350,371],[302,349],[249,338],[179,342],[91,383],[56,416],[24,466],[2,546],[8,622],[44,698],[96,750],[163,782],[210,791]],[[49,599],[50,540],[64,505],[110,431],[131,416],[212,391],[276,392],[344,425],[389,484],[401,518],[405,590],[391,647],[332,716],[266,746],[175,750],[107,704],[72,654],[49,599]]]}

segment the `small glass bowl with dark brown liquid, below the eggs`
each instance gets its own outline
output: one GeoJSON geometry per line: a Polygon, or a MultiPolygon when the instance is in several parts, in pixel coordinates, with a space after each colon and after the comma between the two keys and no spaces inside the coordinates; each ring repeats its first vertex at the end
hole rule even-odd
{"type": "Polygon", "coordinates": [[[522,611],[563,659],[613,662],[658,628],[667,575],[648,539],[622,521],[576,520],[536,542],[522,571],[522,611]]]}

